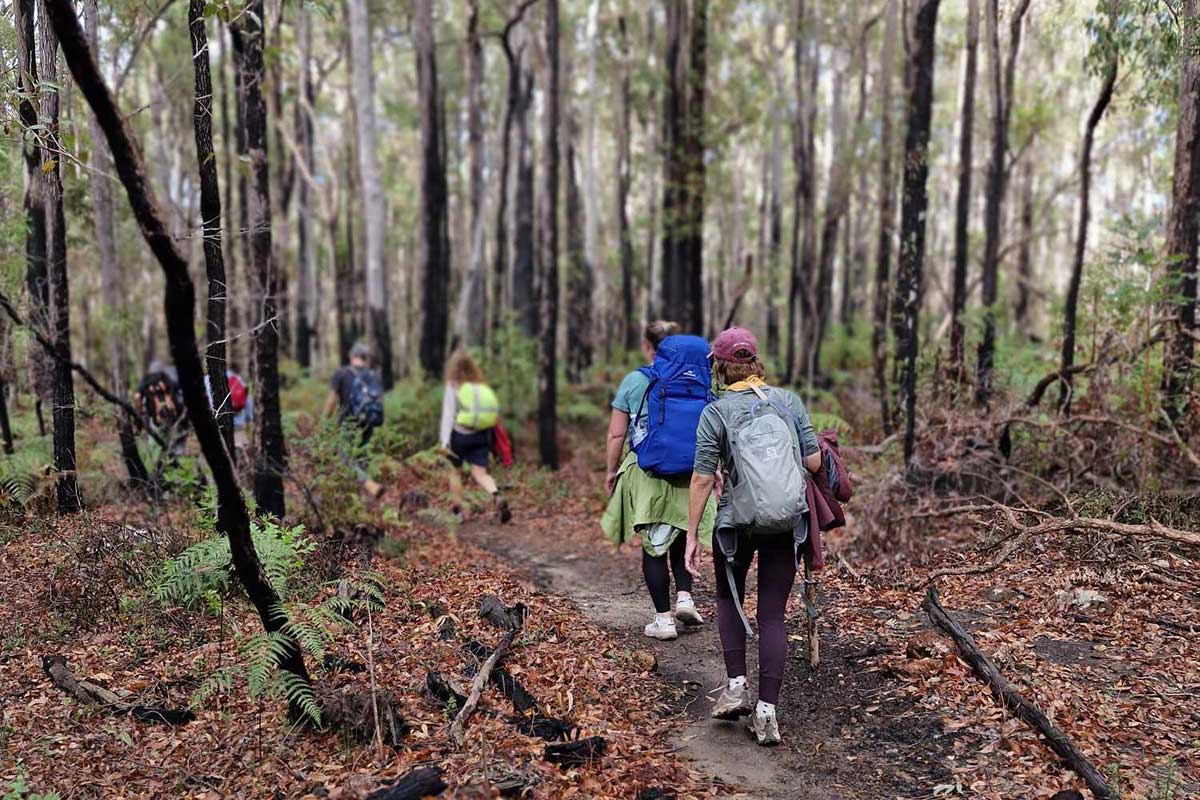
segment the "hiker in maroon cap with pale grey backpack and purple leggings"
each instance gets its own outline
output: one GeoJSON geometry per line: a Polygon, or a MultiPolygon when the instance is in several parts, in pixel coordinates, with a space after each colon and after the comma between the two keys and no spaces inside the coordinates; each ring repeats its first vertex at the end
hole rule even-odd
{"type": "Polygon", "coordinates": [[[713,566],[716,573],[716,627],[728,682],[713,708],[716,720],[750,716],[760,745],[778,745],[779,700],[787,661],[784,613],[796,582],[799,549],[808,539],[805,482],[821,469],[812,422],[794,393],[768,386],[758,342],[744,327],[731,327],[713,342],[713,374],[724,395],[701,414],[696,461],[688,497],[688,569],[701,573],[697,528],[716,483],[713,566]],[[758,704],[746,685],[746,636],[742,610],[746,575],[758,554],[758,704]]]}

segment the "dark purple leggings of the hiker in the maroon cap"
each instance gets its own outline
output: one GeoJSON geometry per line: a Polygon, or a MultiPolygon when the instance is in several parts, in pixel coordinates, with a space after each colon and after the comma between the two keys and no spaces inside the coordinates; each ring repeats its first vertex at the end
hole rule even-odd
{"type": "MultiPolygon", "coordinates": [[[[758,699],[764,703],[779,700],[779,688],[784,682],[784,666],[787,662],[787,626],[784,613],[787,596],[796,583],[796,551],[792,534],[748,536],[737,535],[733,555],[733,579],[738,599],[746,596],[746,575],[750,561],[758,553],[758,699]]],[[[713,547],[713,566],[716,567],[716,630],[721,634],[725,652],[725,670],[730,678],[746,674],[746,632],[742,618],[733,604],[728,578],[725,575],[725,555],[713,547]]]]}

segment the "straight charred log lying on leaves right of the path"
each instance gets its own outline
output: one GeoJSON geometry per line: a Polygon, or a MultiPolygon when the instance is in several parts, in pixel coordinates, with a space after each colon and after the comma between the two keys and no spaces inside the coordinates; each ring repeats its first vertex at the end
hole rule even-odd
{"type": "Polygon", "coordinates": [[[982,681],[988,684],[992,696],[1004,708],[1040,733],[1050,750],[1076,775],[1084,778],[1087,788],[1092,790],[1097,800],[1117,800],[1118,795],[1116,790],[1109,786],[1109,782],[1104,780],[1104,776],[1096,769],[1096,765],[1075,747],[1067,734],[1058,729],[1042,709],[1022,697],[1008,682],[1008,679],[1000,674],[1000,670],[991,663],[991,660],[979,650],[974,638],[942,607],[937,597],[937,587],[929,588],[925,593],[923,606],[934,624],[954,639],[954,644],[959,648],[959,656],[982,681]]]}

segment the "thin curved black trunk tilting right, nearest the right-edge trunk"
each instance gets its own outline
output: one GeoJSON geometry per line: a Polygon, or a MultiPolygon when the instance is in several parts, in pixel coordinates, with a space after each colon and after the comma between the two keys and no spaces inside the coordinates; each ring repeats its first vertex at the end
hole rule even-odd
{"type": "MultiPolygon", "coordinates": [[[[1110,20],[1115,31],[1116,19],[1110,20]]],[[[1084,281],[1084,258],[1087,254],[1087,227],[1091,222],[1092,203],[1092,146],[1096,144],[1096,128],[1104,119],[1104,112],[1112,102],[1112,89],[1117,83],[1117,68],[1120,64],[1116,44],[1110,40],[1106,47],[1111,48],[1104,65],[1104,83],[1100,85],[1100,94],[1092,106],[1092,113],[1087,115],[1087,125],[1084,128],[1084,145],[1079,151],[1079,229],[1075,233],[1075,252],[1070,266],[1070,282],[1067,284],[1067,301],[1063,307],[1062,320],[1062,362],[1058,366],[1058,410],[1062,414],[1070,414],[1070,398],[1074,390],[1075,368],[1075,318],[1079,313],[1079,287],[1084,281]]]]}

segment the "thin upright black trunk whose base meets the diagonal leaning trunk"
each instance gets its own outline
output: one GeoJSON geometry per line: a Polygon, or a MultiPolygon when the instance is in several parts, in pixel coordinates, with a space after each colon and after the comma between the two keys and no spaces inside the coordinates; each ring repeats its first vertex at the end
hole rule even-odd
{"type": "Polygon", "coordinates": [[[196,76],[196,100],[192,126],[196,133],[196,160],[200,172],[200,222],[204,231],[204,267],[209,278],[208,336],[204,362],[217,428],[229,452],[233,447],[233,408],[229,381],[226,380],[226,288],[224,249],[221,245],[221,186],[217,182],[217,155],[212,150],[212,76],[209,67],[209,37],[204,30],[205,0],[191,0],[187,26],[192,35],[192,71],[196,76]]]}

